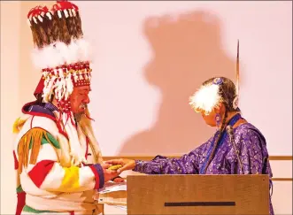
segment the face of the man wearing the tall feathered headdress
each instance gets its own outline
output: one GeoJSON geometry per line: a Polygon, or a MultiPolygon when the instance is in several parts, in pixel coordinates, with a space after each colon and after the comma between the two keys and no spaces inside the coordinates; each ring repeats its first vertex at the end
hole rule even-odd
{"type": "Polygon", "coordinates": [[[73,113],[82,113],[89,104],[89,86],[74,87],[70,96],[71,111],[73,113]]]}

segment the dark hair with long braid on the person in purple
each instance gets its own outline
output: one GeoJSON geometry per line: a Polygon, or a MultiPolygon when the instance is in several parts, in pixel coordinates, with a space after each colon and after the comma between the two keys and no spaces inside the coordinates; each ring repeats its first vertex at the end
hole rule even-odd
{"type": "Polygon", "coordinates": [[[227,127],[227,113],[228,112],[232,112],[232,111],[240,111],[240,109],[237,107],[236,109],[234,108],[233,102],[235,100],[235,97],[237,96],[236,93],[236,88],[235,88],[235,84],[233,83],[233,81],[225,78],[225,77],[213,77],[212,79],[209,79],[207,81],[204,81],[203,85],[208,85],[208,84],[212,84],[212,82],[216,79],[216,78],[220,78],[222,80],[222,83],[220,83],[219,86],[219,95],[222,98],[222,104],[225,105],[225,113],[224,113],[224,118],[223,121],[221,123],[219,132],[216,134],[217,136],[215,137],[214,140],[214,145],[212,148],[212,154],[208,160],[207,165],[205,166],[205,170],[204,173],[206,172],[209,164],[212,161],[212,158],[214,157],[215,151],[217,149],[217,146],[220,142],[220,139],[222,138],[223,134],[226,131],[226,127],[227,127]]]}

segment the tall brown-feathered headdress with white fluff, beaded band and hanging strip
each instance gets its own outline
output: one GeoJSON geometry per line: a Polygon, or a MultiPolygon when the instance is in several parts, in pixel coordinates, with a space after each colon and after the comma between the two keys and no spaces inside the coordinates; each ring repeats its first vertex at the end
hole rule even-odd
{"type": "Polygon", "coordinates": [[[32,57],[42,71],[35,96],[42,95],[43,102],[53,96],[58,105],[58,119],[66,130],[73,153],[73,163],[85,161],[80,155],[80,142],[75,127],[70,96],[74,87],[89,86],[91,79],[90,47],[84,40],[79,8],[67,1],[58,1],[50,10],[36,6],[27,14],[35,49],[32,57]]]}

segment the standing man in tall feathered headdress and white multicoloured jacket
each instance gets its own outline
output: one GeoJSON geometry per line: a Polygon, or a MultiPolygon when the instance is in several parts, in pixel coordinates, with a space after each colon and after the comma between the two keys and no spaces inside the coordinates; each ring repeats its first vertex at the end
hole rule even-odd
{"type": "Polygon", "coordinates": [[[103,164],[90,123],[90,52],[79,8],[67,1],[37,6],[27,22],[42,78],[37,100],[13,125],[16,214],[98,214],[96,189],[118,173],[103,164]]]}

